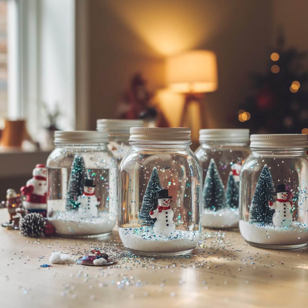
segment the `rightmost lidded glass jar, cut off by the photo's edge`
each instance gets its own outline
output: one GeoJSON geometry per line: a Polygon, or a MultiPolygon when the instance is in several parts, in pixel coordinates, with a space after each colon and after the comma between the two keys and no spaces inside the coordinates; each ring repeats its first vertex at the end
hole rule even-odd
{"type": "Polygon", "coordinates": [[[307,135],[251,135],[240,176],[240,231],[251,245],[308,242],[307,135]]]}

